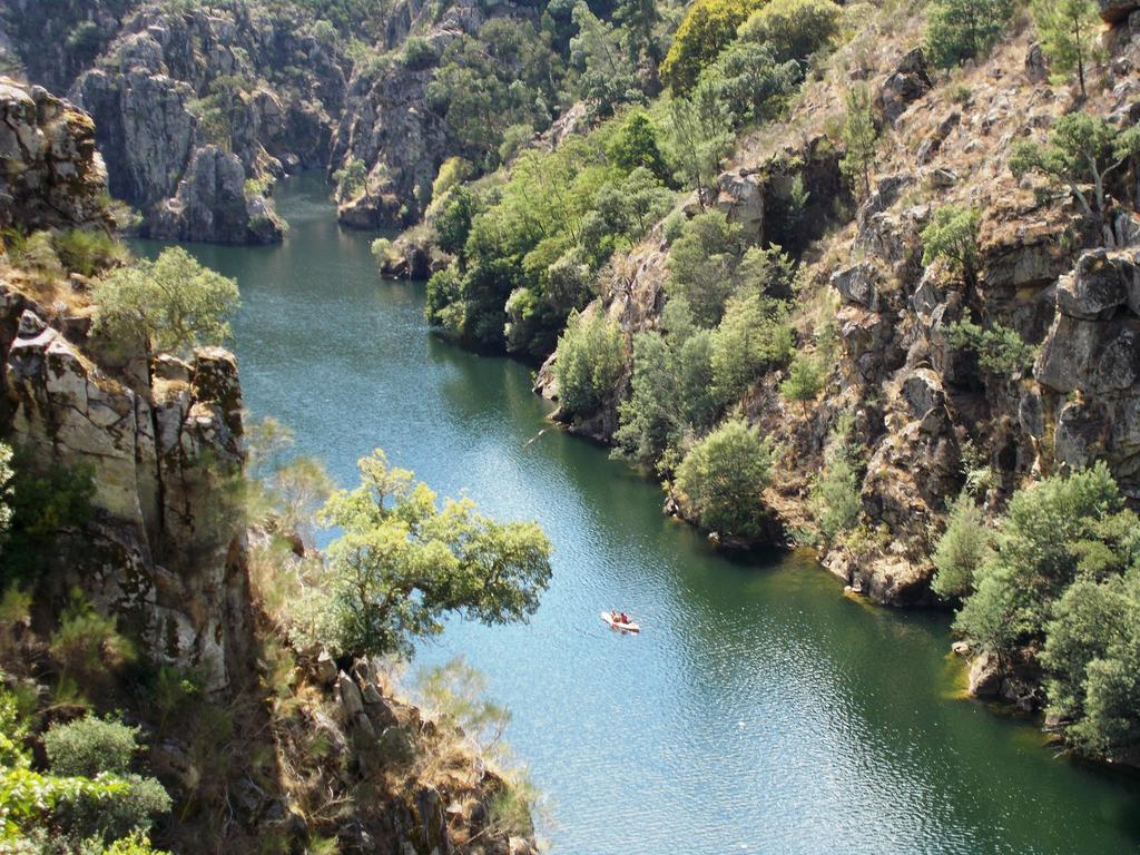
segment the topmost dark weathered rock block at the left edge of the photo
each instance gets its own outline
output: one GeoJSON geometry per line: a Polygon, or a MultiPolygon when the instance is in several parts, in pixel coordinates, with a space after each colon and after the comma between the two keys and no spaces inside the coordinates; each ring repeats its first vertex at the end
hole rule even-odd
{"type": "Polygon", "coordinates": [[[106,170],[91,117],[0,76],[0,228],[106,226],[106,170]]]}

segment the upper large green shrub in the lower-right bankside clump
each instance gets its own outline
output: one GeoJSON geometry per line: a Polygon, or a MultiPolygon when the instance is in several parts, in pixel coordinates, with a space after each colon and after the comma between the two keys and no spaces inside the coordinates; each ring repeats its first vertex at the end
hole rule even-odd
{"type": "Polygon", "coordinates": [[[955,626],[1000,654],[1040,638],[1069,585],[1123,571],[1138,524],[1104,463],[1019,490],[955,626]]]}

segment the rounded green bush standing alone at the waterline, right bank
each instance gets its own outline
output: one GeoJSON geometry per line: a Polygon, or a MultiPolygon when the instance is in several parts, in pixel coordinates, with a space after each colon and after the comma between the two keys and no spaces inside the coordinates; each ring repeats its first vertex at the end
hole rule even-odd
{"type": "Polygon", "coordinates": [[[677,467],[676,487],[702,528],[722,535],[760,534],[760,491],[768,482],[773,448],[756,427],[733,420],[702,439],[677,467]]]}

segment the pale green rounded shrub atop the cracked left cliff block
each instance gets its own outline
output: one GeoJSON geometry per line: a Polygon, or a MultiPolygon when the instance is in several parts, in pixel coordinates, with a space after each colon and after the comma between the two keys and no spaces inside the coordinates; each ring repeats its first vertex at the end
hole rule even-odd
{"type": "Polygon", "coordinates": [[[176,246],[163,250],[157,261],[140,259],[113,271],[96,284],[91,299],[98,307],[96,329],[185,355],[199,343],[229,337],[238,292],[236,282],[176,246]]]}

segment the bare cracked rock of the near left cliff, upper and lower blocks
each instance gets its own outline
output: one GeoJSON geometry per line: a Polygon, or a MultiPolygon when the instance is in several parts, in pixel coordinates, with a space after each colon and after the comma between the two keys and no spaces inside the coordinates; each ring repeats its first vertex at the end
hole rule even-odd
{"type": "MultiPolygon", "coordinates": [[[[105,227],[90,119],[9,82],[0,111],[8,222],[105,227]]],[[[223,689],[249,635],[243,536],[219,491],[243,462],[234,357],[152,358],[142,342],[92,335],[81,294],[43,304],[23,285],[0,256],[0,437],[27,465],[85,470],[95,486],[92,520],[60,536],[82,548],[52,584],[79,586],[156,658],[223,689]]]]}

